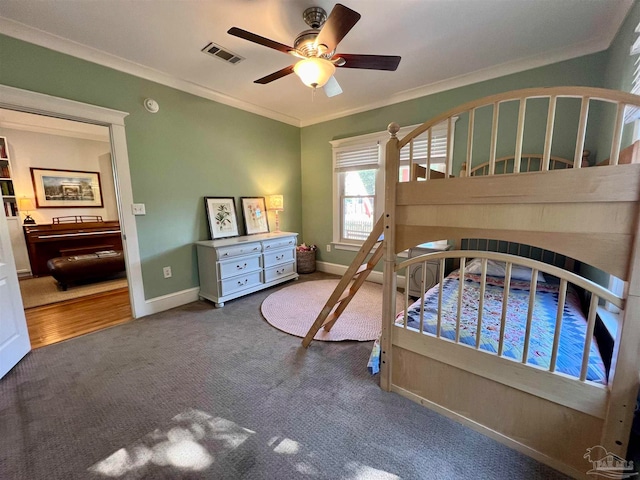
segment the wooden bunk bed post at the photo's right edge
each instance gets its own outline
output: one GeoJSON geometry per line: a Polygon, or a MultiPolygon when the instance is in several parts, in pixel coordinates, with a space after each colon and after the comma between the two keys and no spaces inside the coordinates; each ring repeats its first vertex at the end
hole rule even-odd
{"type": "Polygon", "coordinates": [[[611,364],[613,383],[609,391],[607,413],[602,428],[602,446],[622,458],[626,457],[638,398],[640,378],[640,212],[636,218],[633,250],[627,279],[629,290],[624,318],[618,328],[611,364]]]}

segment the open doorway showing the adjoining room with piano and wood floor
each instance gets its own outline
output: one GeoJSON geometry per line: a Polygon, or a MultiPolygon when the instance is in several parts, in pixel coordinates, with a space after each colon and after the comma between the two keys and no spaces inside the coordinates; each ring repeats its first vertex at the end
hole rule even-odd
{"type": "Polygon", "coordinates": [[[133,318],[109,140],[104,126],[0,109],[0,187],[33,348],[133,318]],[[88,268],[58,273],[50,257],[88,268]]]}

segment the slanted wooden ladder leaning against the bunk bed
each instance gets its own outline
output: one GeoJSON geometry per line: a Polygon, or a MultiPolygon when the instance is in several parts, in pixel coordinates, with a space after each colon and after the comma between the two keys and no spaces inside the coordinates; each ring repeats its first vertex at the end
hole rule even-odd
{"type": "Polygon", "coordinates": [[[320,314],[307,332],[307,335],[302,340],[302,345],[305,348],[309,346],[313,341],[313,337],[316,336],[316,333],[318,333],[318,330],[322,327],[324,327],[327,332],[331,330],[342,312],[344,312],[344,309],[347,308],[347,305],[351,302],[351,299],[367,279],[369,273],[371,273],[378,261],[382,258],[384,249],[378,246],[376,251],[371,255],[371,258],[366,261],[369,254],[373,251],[373,248],[381,241],[384,227],[383,218],[384,215],[376,222],[371,234],[369,234],[369,237],[362,244],[358,254],[353,259],[353,262],[351,262],[351,265],[349,265],[349,268],[347,268],[344,276],[338,282],[329,300],[327,300],[327,303],[325,303],[320,314]]]}

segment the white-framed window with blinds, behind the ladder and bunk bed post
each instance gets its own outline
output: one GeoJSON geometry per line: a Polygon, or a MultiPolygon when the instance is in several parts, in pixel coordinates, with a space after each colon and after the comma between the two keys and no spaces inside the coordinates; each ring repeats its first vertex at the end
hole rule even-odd
{"type": "MultiPolygon", "coordinates": [[[[416,126],[400,129],[402,138],[416,126]]],[[[431,168],[444,172],[447,154],[446,123],[432,129],[431,168]]],[[[453,129],[452,129],[453,138],[453,129]]],[[[357,249],[384,210],[384,164],[388,132],[334,140],[333,243],[336,248],[357,249]]],[[[427,163],[427,134],[413,141],[413,161],[427,163]]],[[[449,152],[451,158],[452,153],[449,152]]],[[[409,180],[410,146],[400,151],[401,182],[409,180]]]]}

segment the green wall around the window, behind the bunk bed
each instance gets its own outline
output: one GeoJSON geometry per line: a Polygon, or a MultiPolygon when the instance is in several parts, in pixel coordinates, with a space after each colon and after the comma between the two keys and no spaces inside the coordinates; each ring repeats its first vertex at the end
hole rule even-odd
{"type": "MultiPolygon", "coordinates": [[[[390,105],[388,107],[351,115],[302,129],[302,218],[303,237],[305,242],[319,245],[318,259],[325,262],[347,265],[353,259],[353,252],[326,252],[325,246],[330,244],[333,235],[332,225],[332,152],[329,141],[338,138],[352,137],[365,133],[379,132],[386,129],[391,122],[401,126],[422,123],[439,113],[451,109],[464,102],[495,93],[528,87],[583,85],[601,87],[604,82],[607,52],[568,60],[533,70],[500,77],[494,80],[468,85],[453,90],[429,95],[415,100],[390,105]]],[[[539,107],[539,106],[538,106],[539,107]]],[[[530,117],[538,116],[540,108],[534,108],[530,117]]],[[[542,108],[544,115],[546,110],[542,108]]],[[[575,110],[570,107],[567,110],[575,110]]],[[[502,111],[501,111],[502,115],[502,111]]],[[[558,122],[562,123],[562,122],[558,122]]],[[[456,125],[456,137],[466,142],[466,119],[461,118],[456,125]]],[[[515,135],[515,134],[514,134],[515,135]]],[[[575,133],[570,135],[575,142],[575,133]]],[[[474,138],[476,138],[474,136],[474,138]]],[[[554,143],[562,144],[562,135],[557,129],[554,143]]],[[[487,153],[488,153],[488,142],[487,153]]],[[[534,142],[535,143],[535,142],[534,142]]],[[[465,143],[466,145],[466,143],[465,143]]],[[[460,145],[456,145],[454,171],[457,171],[462,159],[458,155],[460,145]]],[[[589,148],[590,145],[587,144],[589,148]]],[[[571,147],[570,156],[573,156],[571,147]]],[[[484,147],[474,151],[480,155],[484,147]]],[[[554,149],[554,154],[562,155],[568,147],[554,149]]],[[[464,150],[464,147],[462,148],[464,150]]],[[[511,150],[513,151],[513,150],[511,150]]],[[[540,153],[540,152],[527,152],[540,153]]],[[[563,155],[563,156],[566,156],[563,155]]]]}

